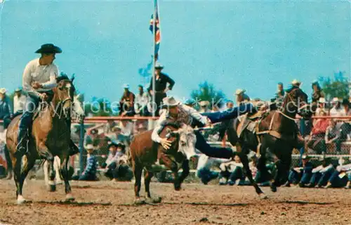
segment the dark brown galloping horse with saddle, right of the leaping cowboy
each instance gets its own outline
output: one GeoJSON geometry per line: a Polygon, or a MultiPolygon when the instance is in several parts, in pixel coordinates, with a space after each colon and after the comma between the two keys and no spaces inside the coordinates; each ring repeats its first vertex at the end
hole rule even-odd
{"type": "Polygon", "coordinates": [[[270,148],[271,152],[277,156],[277,173],[270,185],[272,191],[277,191],[277,186],[284,184],[284,181],[288,178],[291,154],[298,139],[296,114],[303,117],[310,116],[308,108],[307,95],[301,89],[293,87],[287,91],[282,107],[270,110],[267,115],[261,117],[256,122],[254,129],[247,129],[248,126],[244,126],[240,133],[238,131],[239,118],[228,124],[228,141],[233,146],[237,146],[238,155],[244,165],[244,172],[259,195],[265,197],[252,177],[247,153],[249,153],[249,150],[259,151],[260,158],[257,168],[262,174],[268,173],[265,167],[267,148],[270,148]],[[240,133],[239,137],[238,133],[240,133]]]}

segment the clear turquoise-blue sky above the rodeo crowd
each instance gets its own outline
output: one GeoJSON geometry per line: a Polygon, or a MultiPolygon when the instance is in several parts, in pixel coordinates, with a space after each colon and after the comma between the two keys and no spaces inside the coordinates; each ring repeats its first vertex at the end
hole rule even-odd
{"type": "MultiPolygon", "coordinates": [[[[189,97],[204,81],[232,98],[246,89],[271,98],[277,82],[297,78],[310,94],[319,75],[350,77],[350,2],[159,1],[164,72],[171,94],[189,97]]],[[[0,86],[21,85],[41,44],[60,46],[55,63],[76,74],[86,95],[118,100],[122,85],[144,83],[138,69],[152,53],[153,1],[5,1],[0,86]]]]}

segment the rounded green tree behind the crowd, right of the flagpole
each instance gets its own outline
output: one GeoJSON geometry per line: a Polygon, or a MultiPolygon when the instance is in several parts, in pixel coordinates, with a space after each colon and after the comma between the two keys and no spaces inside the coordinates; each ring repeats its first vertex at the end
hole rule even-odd
{"type": "Polygon", "coordinates": [[[199,89],[192,91],[190,96],[197,102],[195,108],[199,107],[199,101],[209,101],[211,108],[221,108],[225,103],[225,94],[208,82],[199,84],[199,89]]]}

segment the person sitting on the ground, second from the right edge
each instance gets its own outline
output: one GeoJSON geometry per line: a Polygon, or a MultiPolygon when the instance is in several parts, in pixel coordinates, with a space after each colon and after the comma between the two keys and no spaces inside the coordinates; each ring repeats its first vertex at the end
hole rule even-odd
{"type": "Polygon", "coordinates": [[[330,160],[322,158],[322,165],[312,169],[312,178],[310,184],[307,184],[308,188],[314,188],[316,185],[318,188],[326,186],[328,180],[335,171],[333,164],[329,162],[330,160]]]}

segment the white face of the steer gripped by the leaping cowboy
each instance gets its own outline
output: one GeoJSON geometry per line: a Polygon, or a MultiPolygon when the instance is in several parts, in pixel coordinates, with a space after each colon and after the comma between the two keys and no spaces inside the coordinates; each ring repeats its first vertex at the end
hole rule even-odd
{"type": "Polygon", "coordinates": [[[195,153],[195,143],[197,137],[194,134],[194,129],[188,125],[183,125],[176,131],[168,131],[168,136],[176,136],[178,140],[178,152],[185,155],[187,160],[190,160],[195,153]]]}

